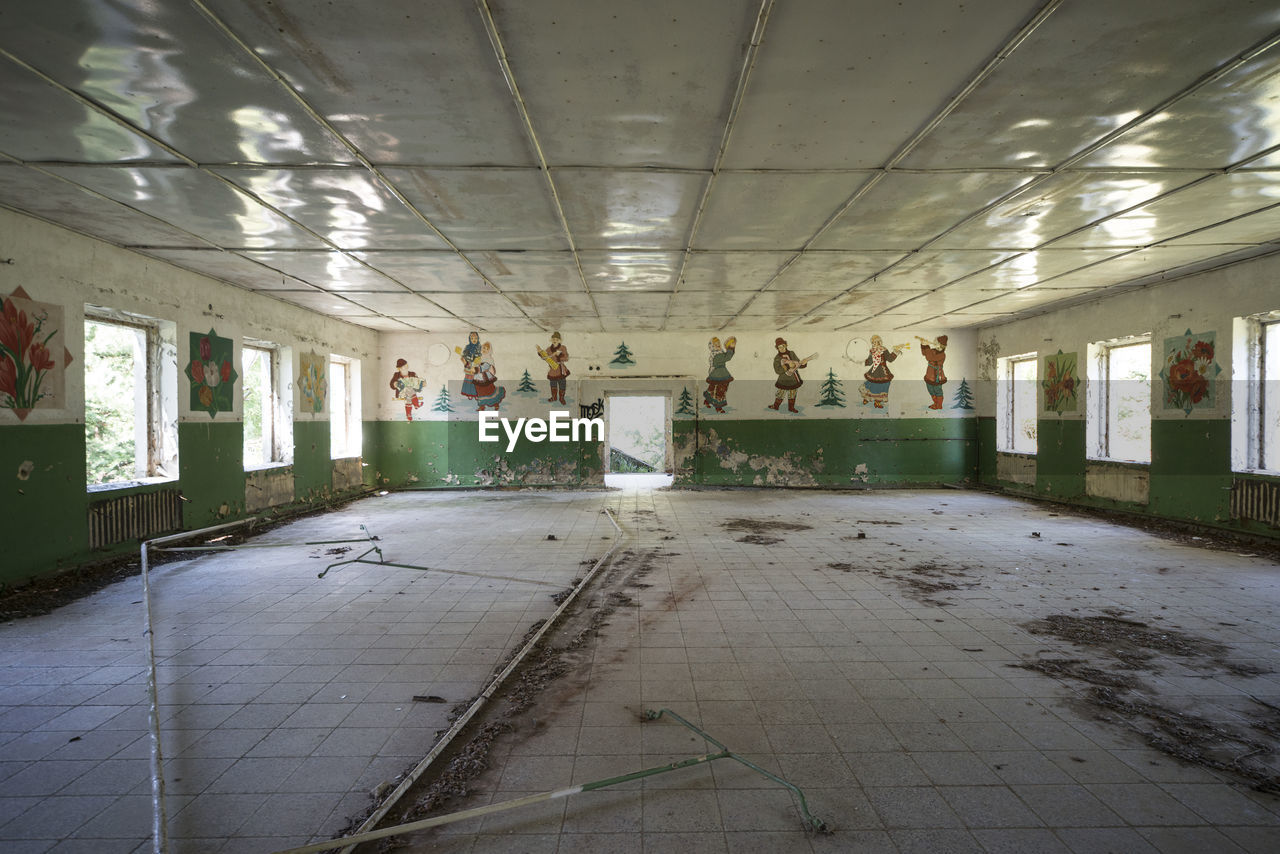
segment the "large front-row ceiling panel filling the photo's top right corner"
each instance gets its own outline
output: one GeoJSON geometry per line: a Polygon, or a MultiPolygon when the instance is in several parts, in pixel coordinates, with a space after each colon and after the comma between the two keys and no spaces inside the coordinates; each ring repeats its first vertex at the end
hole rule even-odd
{"type": "Polygon", "coordinates": [[[902,165],[1062,163],[1265,37],[1274,12],[1251,0],[1064,3],[902,165]]]}

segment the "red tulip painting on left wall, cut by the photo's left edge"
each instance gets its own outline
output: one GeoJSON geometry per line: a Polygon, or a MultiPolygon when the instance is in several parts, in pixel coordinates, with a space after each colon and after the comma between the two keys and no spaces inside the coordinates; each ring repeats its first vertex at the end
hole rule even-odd
{"type": "Polygon", "coordinates": [[[0,306],[0,407],[24,421],[33,408],[60,408],[70,351],[63,307],[36,302],[22,288],[0,306]]]}

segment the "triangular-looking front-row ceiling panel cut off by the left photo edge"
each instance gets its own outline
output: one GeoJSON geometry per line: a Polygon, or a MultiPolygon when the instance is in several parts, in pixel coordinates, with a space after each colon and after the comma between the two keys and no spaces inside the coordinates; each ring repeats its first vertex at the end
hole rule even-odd
{"type": "MultiPolygon", "coordinates": [[[[6,18],[0,17],[0,33],[5,33],[6,18]]],[[[4,58],[0,58],[0,117],[4,117],[0,151],[19,160],[179,163],[161,146],[4,58]]]]}

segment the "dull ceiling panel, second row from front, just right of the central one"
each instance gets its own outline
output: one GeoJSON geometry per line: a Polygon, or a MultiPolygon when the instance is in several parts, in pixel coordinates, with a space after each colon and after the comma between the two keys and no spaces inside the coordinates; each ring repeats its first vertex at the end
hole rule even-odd
{"type": "Polygon", "coordinates": [[[868,178],[859,172],[722,172],[694,246],[799,250],[868,178]]]}

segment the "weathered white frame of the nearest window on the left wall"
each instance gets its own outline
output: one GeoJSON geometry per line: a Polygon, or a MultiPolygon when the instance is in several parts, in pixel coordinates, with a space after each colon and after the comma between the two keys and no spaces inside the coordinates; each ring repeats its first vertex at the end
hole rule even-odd
{"type": "MultiPolygon", "coordinates": [[[[90,493],[128,489],[143,484],[178,480],[178,346],[177,324],[160,318],[137,315],[104,306],[86,305],[83,325],[120,326],[142,333],[142,405],[134,388],[134,472],[123,480],[88,483],[88,442],[86,440],[86,484],[90,493]],[[137,421],[142,421],[138,430],[137,421]]],[[[88,403],[88,360],[84,360],[84,403],[88,403]]]]}

